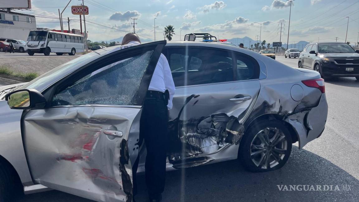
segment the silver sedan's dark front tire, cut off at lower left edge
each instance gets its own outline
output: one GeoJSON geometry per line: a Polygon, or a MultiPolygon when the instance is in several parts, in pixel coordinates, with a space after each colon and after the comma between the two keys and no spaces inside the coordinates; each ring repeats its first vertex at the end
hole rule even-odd
{"type": "Polygon", "coordinates": [[[0,202],[12,201],[22,194],[21,180],[16,171],[0,161],[0,202]]]}

